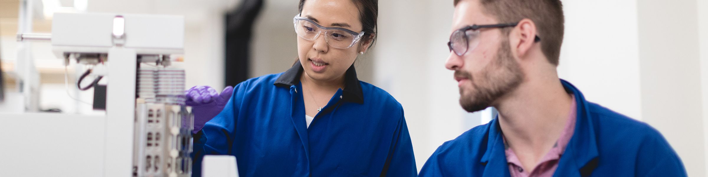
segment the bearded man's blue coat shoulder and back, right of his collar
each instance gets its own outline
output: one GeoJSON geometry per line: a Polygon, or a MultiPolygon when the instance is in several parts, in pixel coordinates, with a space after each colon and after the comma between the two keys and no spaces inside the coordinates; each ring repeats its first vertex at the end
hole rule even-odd
{"type": "Polygon", "coordinates": [[[588,112],[594,120],[596,137],[601,139],[600,164],[634,169],[627,171],[627,175],[634,173],[634,176],[686,176],[678,154],[651,125],[596,103],[588,102],[588,112]]]}

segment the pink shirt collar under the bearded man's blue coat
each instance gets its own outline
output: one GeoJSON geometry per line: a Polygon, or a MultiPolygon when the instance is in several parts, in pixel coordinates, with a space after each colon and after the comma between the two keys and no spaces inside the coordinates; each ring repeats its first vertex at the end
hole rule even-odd
{"type": "Polygon", "coordinates": [[[575,130],[576,123],[576,102],[575,96],[573,96],[573,104],[571,105],[571,113],[569,115],[569,120],[566,123],[566,127],[563,132],[561,132],[561,137],[559,137],[553,148],[541,158],[539,164],[536,165],[535,169],[529,171],[523,169],[521,161],[518,156],[514,154],[514,151],[508,147],[506,144],[506,139],[504,140],[504,147],[506,148],[506,161],[509,164],[509,172],[513,177],[527,177],[527,176],[553,176],[558,168],[558,161],[561,159],[561,155],[566,150],[568,142],[570,142],[571,137],[573,137],[573,131],[575,130]]]}

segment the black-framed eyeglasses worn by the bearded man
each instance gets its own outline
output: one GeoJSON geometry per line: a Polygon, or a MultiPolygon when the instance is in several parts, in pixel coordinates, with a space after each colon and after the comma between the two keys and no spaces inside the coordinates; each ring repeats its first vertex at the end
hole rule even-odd
{"type": "MultiPolygon", "coordinates": [[[[479,29],[481,28],[507,28],[516,26],[518,23],[500,23],[494,25],[468,25],[464,28],[459,28],[450,35],[450,42],[447,42],[447,47],[450,47],[450,52],[455,52],[457,56],[462,56],[467,50],[474,50],[474,47],[479,45],[479,29]]],[[[536,35],[534,42],[541,41],[541,38],[536,35]]]]}

